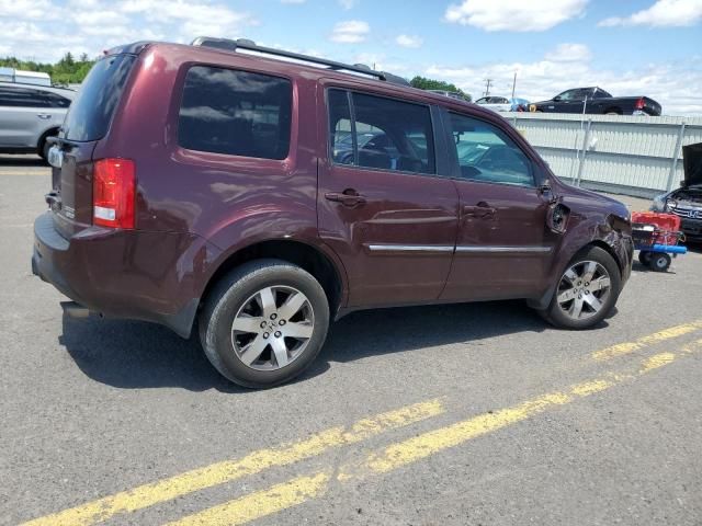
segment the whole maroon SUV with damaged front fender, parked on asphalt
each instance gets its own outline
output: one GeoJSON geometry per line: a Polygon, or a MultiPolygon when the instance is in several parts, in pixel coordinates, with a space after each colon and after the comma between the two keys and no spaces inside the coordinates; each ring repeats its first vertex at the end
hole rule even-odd
{"type": "Polygon", "coordinates": [[[352,310],[524,298],[585,329],[630,275],[621,203],[558,181],[497,114],[361,65],[132,44],[54,142],[34,273],[69,313],[197,327],[242,386],[298,375],[352,310]]]}

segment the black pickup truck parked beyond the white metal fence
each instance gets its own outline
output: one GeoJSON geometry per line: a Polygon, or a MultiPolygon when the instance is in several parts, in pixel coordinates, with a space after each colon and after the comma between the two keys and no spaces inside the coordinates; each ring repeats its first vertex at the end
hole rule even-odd
{"type": "Polygon", "coordinates": [[[532,112],[591,113],[603,115],[660,115],[661,107],[647,96],[612,96],[601,88],[576,88],[550,101],[535,102],[532,112]]]}

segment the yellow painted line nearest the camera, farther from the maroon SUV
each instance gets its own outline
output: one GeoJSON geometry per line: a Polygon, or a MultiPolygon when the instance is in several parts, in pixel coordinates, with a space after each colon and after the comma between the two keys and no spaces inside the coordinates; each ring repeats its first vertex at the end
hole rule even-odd
{"type": "MultiPolygon", "coordinates": [[[[692,353],[702,348],[702,340],[683,350],[692,353]]],[[[342,466],[337,474],[341,483],[372,474],[383,474],[416,462],[437,453],[464,444],[473,438],[501,430],[510,424],[528,420],[548,409],[568,404],[580,398],[602,392],[614,386],[635,379],[652,370],[672,363],[675,353],[660,353],[642,362],[638,375],[609,373],[609,379],[596,378],[570,386],[564,391],[551,392],[518,405],[487,412],[455,424],[440,427],[403,442],[390,444],[370,454],[361,462],[342,466]]],[[[322,495],[328,488],[328,471],[291,479],[268,490],[242,496],[225,504],[204,510],[167,526],[191,525],[240,525],[282,510],[296,506],[322,495]]]]}

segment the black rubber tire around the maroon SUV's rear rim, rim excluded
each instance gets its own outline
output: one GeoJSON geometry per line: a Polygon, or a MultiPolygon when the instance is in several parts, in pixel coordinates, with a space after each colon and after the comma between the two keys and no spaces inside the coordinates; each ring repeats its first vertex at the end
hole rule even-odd
{"type": "Polygon", "coordinates": [[[319,354],[329,328],[329,304],[319,282],[305,270],[281,260],[257,260],[219,279],[205,300],[199,325],[205,355],[225,378],[242,387],[269,388],[299,375],[319,354]],[[246,365],[235,351],[233,323],[252,296],[267,287],[292,287],[303,293],[314,312],[314,322],[309,325],[312,336],[306,340],[306,346],[290,364],[273,370],[257,370],[246,365]]]}

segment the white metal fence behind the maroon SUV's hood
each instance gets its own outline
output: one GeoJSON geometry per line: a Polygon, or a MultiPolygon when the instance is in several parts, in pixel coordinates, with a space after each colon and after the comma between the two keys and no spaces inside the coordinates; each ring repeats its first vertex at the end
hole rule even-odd
{"type": "Polygon", "coordinates": [[[677,188],[682,147],[702,142],[702,117],[502,115],[561,179],[637,197],[677,188]]]}

